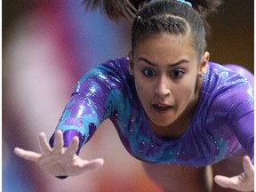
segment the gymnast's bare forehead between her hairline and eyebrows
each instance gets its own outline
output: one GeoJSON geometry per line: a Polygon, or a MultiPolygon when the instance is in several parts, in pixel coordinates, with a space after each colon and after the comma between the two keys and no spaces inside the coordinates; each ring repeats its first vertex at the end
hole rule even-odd
{"type": "Polygon", "coordinates": [[[197,60],[197,52],[188,36],[162,33],[140,41],[133,51],[133,59],[137,62],[141,58],[164,67],[180,60],[197,60]]]}

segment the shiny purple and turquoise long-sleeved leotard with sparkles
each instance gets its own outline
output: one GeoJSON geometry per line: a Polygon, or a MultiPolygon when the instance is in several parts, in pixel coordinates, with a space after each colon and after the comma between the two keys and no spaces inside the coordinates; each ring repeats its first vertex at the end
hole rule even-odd
{"type": "Polygon", "coordinates": [[[128,59],[119,58],[92,68],[80,79],[57,129],[64,132],[64,147],[75,135],[80,138],[77,154],[109,118],[124,147],[145,162],[198,167],[245,154],[253,162],[253,100],[246,78],[209,62],[187,132],[177,139],[164,139],[148,123],[128,72],[128,59]]]}

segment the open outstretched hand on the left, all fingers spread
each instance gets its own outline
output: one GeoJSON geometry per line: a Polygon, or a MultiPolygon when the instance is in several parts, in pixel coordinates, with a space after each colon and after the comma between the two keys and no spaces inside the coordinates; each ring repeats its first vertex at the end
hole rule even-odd
{"type": "Polygon", "coordinates": [[[63,133],[57,131],[53,148],[46,140],[44,132],[39,135],[42,154],[27,151],[22,148],[14,148],[17,156],[28,161],[35,162],[42,170],[52,176],[75,176],[83,172],[100,168],[104,163],[103,159],[86,161],[76,156],[79,139],[74,137],[68,148],[63,148],[63,133]]]}

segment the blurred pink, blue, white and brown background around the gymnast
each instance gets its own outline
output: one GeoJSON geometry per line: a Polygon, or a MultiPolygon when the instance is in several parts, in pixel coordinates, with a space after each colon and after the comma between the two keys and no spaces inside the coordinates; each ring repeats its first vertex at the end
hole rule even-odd
{"type": "MultiPolygon", "coordinates": [[[[253,0],[225,0],[209,18],[212,61],[253,72],[253,8],[253,0]]],[[[130,28],[85,11],[82,0],[3,0],[4,192],[160,191],[109,121],[81,151],[105,159],[96,172],[59,180],[13,154],[17,146],[40,151],[39,132],[51,137],[76,81],[104,60],[127,56],[130,28]]]]}

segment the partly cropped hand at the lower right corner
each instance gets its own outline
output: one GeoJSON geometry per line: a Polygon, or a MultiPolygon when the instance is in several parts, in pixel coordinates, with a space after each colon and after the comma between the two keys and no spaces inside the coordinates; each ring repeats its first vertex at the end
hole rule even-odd
{"type": "Polygon", "coordinates": [[[244,172],[240,175],[228,178],[216,175],[214,181],[222,188],[234,188],[238,191],[253,191],[254,167],[249,156],[243,158],[244,172]]]}

